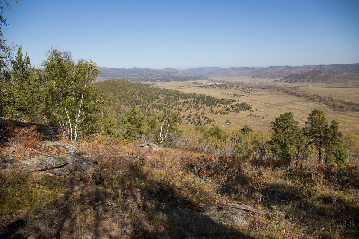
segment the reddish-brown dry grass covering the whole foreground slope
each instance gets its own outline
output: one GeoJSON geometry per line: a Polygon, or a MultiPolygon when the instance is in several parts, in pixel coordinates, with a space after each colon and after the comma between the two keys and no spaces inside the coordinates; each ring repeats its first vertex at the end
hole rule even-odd
{"type": "Polygon", "coordinates": [[[92,172],[68,177],[16,168],[1,172],[1,223],[22,216],[26,223],[17,233],[43,238],[358,236],[357,167],[317,167],[308,161],[300,172],[290,169],[293,165],[270,167],[270,161],[259,167],[251,157],[151,151],[138,143],[80,145],[81,152],[98,158],[101,185],[90,184],[92,172]],[[202,205],[215,199],[242,202],[278,218],[251,215],[247,226],[233,226],[200,216],[202,205]]]}

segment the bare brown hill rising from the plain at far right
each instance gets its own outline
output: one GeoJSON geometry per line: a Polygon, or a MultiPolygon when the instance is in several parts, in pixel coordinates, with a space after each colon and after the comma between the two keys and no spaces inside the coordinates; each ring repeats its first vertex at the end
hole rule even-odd
{"type": "Polygon", "coordinates": [[[291,74],[289,76],[283,77],[280,80],[274,82],[285,82],[285,83],[325,83],[325,84],[334,84],[334,83],[346,83],[350,81],[359,80],[359,74],[338,74],[332,75],[325,71],[313,70],[305,73],[291,74]]]}

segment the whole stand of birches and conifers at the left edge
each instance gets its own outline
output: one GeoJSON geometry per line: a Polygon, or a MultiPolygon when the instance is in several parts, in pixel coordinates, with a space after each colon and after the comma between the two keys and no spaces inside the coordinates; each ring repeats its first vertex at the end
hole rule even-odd
{"type": "Polygon", "coordinates": [[[75,62],[70,52],[51,47],[42,68],[35,68],[18,46],[11,66],[2,71],[1,116],[57,126],[71,141],[94,132],[93,113],[102,103],[94,86],[100,73],[94,62],[75,62]]]}

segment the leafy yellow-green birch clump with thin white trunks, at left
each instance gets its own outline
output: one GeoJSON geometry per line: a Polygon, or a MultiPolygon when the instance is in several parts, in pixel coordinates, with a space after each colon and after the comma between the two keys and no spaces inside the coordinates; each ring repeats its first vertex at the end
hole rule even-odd
{"type": "Polygon", "coordinates": [[[94,86],[100,69],[85,59],[76,64],[70,52],[57,48],[48,51],[43,68],[46,116],[50,123],[56,122],[67,139],[75,142],[81,126],[93,122],[93,112],[101,101],[94,86]]]}

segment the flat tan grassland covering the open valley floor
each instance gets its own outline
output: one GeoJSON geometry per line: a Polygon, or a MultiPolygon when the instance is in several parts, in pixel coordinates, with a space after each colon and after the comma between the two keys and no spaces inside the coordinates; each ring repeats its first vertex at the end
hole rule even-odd
{"type": "MultiPolygon", "coordinates": [[[[254,112],[250,111],[241,111],[240,113],[229,112],[228,115],[217,115],[214,113],[209,113],[206,109],[206,114],[209,118],[215,120],[215,124],[228,129],[234,130],[243,127],[247,124],[248,126],[255,128],[257,130],[270,130],[270,121],[274,120],[274,117],[277,117],[279,114],[284,112],[293,112],[295,118],[300,121],[300,125],[304,125],[304,122],[307,121],[307,116],[313,109],[320,109],[324,111],[328,121],[337,120],[340,122],[340,130],[344,134],[354,133],[359,135],[359,112],[340,112],[330,109],[327,105],[315,102],[310,99],[305,99],[302,97],[288,95],[286,93],[276,91],[276,90],[267,90],[267,89],[258,89],[256,84],[268,84],[272,82],[273,79],[248,79],[244,77],[212,77],[208,80],[200,81],[191,81],[191,82],[157,82],[155,85],[163,87],[164,89],[175,89],[181,90],[186,93],[200,93],[206,94],[214,97],[225,98],[225,99],[236,99],[239,102],[247,102],[252,104],[254,112]],[[243,93],[238,90],[226,90],[226,89],[214,89],[211,87],[197,87],[201,85],[206,85],[209,83],[236,83],[242,87],[255,88],[258,89],[258,92],[251,92],[249,94],[243,93]],[[228,94],[244,94],[245,96],[239,98],[231,98],[228,94]],[[256,111],[257,109],[257,111],[256,111]],[[260,115],[260,117],[247,116],[247,115],[260,115]],[[264,119],[262,117],[265,116],[264,119]],[[224,123],[226,120],[229,120],[232,124],[227,125],[224,123]]],[[[279,85],[279,84],[278,84],[279,85]]],[[[283,84],[281,84],[283,85],[283,84]]],[[[288,84],[285,84],[288,86],[288,84]]],[[[285,86],[283,85],[283,86],[285,86]]],[[[289,84],[290,85],[290,84],[289,84]]],[[[303,84],[302,84],[303,85],[303,84]]],[[[294,85],[292,85],[294,86],[294,85]]],[[[299,84],[297,84],[299,86],[299,84]]],[[[354,102],[359,102],[359,94],[357,94],[359,88],[354,87],[328,87],[328,86],[313,86],[305,87],[306,91],[313,92],[322,95],[331,95],[337,99],[350,100],[354,102]]],[[[221,110],[222,108],[214,107],[213,110],[221,110]]],[[[228,111],[227,111],[228,112],[228,111]]],[[[185,113],[185,116],[188,115],[188,111],[185,113]]]]}

